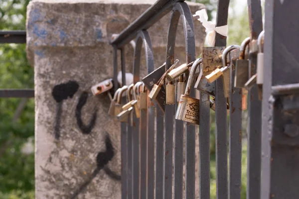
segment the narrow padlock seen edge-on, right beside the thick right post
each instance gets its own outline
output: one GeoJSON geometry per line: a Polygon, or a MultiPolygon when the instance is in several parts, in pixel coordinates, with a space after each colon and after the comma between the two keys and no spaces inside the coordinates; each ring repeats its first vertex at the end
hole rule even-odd
{"type": "Polygon", "coordinates": [[[257,60],[257,84],[262,85],[264,80],[264,35],[265,31],[263,30],[259,37],[258,37],[258,46],[259,46],[259,53],[258,53],[258,60],[257,60]]]}

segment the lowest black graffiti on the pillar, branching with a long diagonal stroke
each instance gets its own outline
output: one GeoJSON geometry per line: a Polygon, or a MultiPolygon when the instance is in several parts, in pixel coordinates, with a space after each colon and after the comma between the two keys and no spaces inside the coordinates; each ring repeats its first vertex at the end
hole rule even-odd
{"type": "Polygon", "coordinates": [[[104,169],[105,173],[115,179],[115,180],[121,180],[121,177],[117,174],[115,174],[113,171],[111,171],[108,167],[107,164],[109,161],[112,160],[114,157],[114,148],[110,139],[109,134],[107,133],[106,139],[105,139],[105,145],[106,145],[106,150],[104,152],[99,152],[97,155],[97,168],[92,172],[91,176],[88,178],[87,181],[85,181],[78,190],[75,191],[75,193],[70,197],[70,199],[76,199],[77,196],[82,193],[86,187],[91,183],[91,181],[97,176],[97,174],[104,169]]]}

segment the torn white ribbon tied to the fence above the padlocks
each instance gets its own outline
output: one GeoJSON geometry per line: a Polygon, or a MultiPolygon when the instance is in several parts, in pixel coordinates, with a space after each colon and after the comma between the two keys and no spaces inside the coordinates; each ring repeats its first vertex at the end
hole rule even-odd
{"type": "Polygon", "coordinates": [[[227,25],[216,27],[216,24],[212,21],[208,21],[208,14],[205,9],[197,10],[193,16],[199,16],[197,20],[199,20],[203,27],[205,27],[207,35],[208,35],[208,43],[211,46],[215,46],[215,37],[216,32],[227,36],[228,27],[227,25]]]}

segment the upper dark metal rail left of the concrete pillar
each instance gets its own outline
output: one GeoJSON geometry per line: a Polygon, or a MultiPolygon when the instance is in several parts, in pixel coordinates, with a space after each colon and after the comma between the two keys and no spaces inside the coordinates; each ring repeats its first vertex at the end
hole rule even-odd
{"type": "Polygon", "coordinates": [[[26,30],[0,31],[0,43],[26,43],[26,30]]]}

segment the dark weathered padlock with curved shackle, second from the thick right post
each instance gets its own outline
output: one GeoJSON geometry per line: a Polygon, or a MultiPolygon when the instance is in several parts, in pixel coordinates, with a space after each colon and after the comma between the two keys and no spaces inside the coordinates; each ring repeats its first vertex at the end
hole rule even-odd
{"type": "Polygon", "coordinates": [[[239,59],[236,61],[234,87],[240,89],[244,88],[244,85],[248,81],[249,77],[249,61],[245,60],[245,50],[249,43],[250,37],[247,37],[241,44],[240,56],[239,59]]]}

